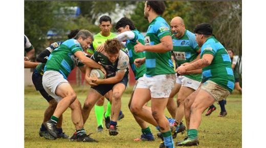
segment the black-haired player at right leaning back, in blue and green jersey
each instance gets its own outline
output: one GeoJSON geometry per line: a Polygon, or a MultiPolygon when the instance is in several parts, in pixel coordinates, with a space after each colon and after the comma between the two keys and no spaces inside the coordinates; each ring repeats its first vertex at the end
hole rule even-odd
{"type": "MultiPolygon", "coordinates": [[[[225,47],[212,35],[212,27],[201,23],[194,29],[196,42],[201,47],[201,59],[189,65],[179,66],[178,73],[187,75],[191,70],[202,69],[203,84],[185,100],[185,117],[188,137],[176,145],[198,145],[197,129],[202,113],[215,101],[226,98],[234,89],[231,60],[225,47]]],[[[191,72],[192,73],[192,72],[191,72]]]]}

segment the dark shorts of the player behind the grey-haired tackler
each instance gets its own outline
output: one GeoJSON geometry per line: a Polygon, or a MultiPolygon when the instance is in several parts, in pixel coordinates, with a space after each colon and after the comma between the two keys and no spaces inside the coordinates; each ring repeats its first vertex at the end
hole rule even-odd
{"type": "Polygon", "coordinates": [[[35,89],[38,90],[40,92],[40,94],[48,101],[50,102],[53,97],[51,95],[49,95],[46,91],[45,88],[43,88],[42,86],[42,75],[40,75],[40,73],[37,72],[36,69],[34,69],[33,73],[32,73],[32,82],[35,86],[35,89]]]}

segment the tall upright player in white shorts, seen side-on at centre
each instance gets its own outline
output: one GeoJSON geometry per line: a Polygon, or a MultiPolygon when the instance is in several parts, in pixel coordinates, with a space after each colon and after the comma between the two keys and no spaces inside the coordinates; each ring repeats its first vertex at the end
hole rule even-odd
{"type": "MultiPolygon", "coordinates": [[[[165,10],[163,1],[146,1],[144,17],[149,27],[145,36],[145,45],[137,41],[135,52],[144,52],[145,58],[135,60],[137,66],[146,64],[146,73],[138,81],[131,101],[130,110],[147,122],[156,121],[164,138],[166,147],[174,147],[169,121],[164,115],[171,89],[176,79],[170,51],[173,48],[170,26],[161,17],[165,10]],[[151,100],[151,112],[143,106],[151,100]]],[[[161,144],[160,144],[161,145],[161,144]]]]}

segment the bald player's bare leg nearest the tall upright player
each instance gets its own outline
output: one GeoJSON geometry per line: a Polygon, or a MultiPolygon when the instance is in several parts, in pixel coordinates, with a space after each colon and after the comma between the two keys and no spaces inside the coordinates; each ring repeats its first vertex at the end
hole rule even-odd
{"type": "Polygon", "coordinates": [[[175,113],[176,113],[176,109],[177,109],[177,105],[176,105],[176,102],[174,101],[173,97],[176,93],[179,92],[180,87],[181,87],[181,84],[174,83],[174,87],[170,93],[170,96],[169,96],[169,99],[168,99],[168,102],[166,105],[167,110],[170,113],[172,118],[175,118],[175,113]]]}

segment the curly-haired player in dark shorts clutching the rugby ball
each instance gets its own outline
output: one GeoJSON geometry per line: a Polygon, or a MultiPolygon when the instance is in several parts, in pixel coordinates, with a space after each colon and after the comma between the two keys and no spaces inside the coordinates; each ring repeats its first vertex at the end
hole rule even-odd
{"type": "Polygon", "coordinates": [[[106,69],[106,79],[91,78],[91,66],[86,67],[85,80],[92,87],[82,108],[84,123],[86,122],[95,103],[112,90],[112,117],[110,120],[109,135],[117,135],[117,120],[121,109],[121,96],[128,82],[128,63],[127,54],[122,51],[123,45],[117,39],[108,39],[104,43],[104,51],[95,52],[91,59],[101,63],[106,69]]]}

